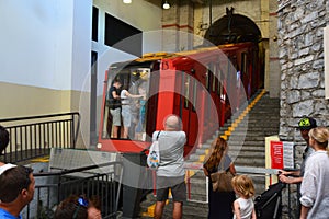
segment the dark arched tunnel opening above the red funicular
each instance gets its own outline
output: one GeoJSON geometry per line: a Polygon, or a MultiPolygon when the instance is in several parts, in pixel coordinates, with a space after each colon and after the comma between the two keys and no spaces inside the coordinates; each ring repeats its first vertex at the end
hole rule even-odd
{"type": "Polygon", "coordinates": [[[234,14],[234,8],[226,8],[226,15],[215,21],[204,38],[214,45],[241,42],[261,42],[262,36],[252,20],[234,14]]]}

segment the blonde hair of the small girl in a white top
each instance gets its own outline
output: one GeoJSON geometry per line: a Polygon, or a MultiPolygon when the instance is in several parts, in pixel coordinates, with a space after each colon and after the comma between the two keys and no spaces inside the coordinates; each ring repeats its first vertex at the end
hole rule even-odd
{"type": "Polygon", "coordinates": [[[252,180],[247,175],[237,175],[231,180],[231,185],[236,192],[250,198],[254,195],[254,187],[252,180]]]}

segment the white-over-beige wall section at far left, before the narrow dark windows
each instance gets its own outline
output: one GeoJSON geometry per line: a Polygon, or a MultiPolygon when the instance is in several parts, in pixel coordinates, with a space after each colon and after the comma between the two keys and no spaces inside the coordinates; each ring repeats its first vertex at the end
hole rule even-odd
{"type": "Polygon", "coordinates": [[[78,108],[71,99],[72,92],[81,92],[79,79],[89,67],[91,28],[81,25],[90,13],[77,11],[90,5],[66,0],[0,2],[1,102],[7,106],[0,108],[1,118],[78,108]]]}

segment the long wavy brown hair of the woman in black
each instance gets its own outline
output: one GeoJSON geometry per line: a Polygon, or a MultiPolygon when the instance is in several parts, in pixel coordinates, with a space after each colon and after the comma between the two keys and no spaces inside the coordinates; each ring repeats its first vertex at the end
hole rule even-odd
{"type": "Polygon", "coordinates": [[[228,146],[224,138],[218,137],[212,142],[212,153],[211,157],[207,159],[204,168],[207,171],[212,171],[215,168],[218,168],[219,162],[223,155],[227,152],[228,146]]]}

